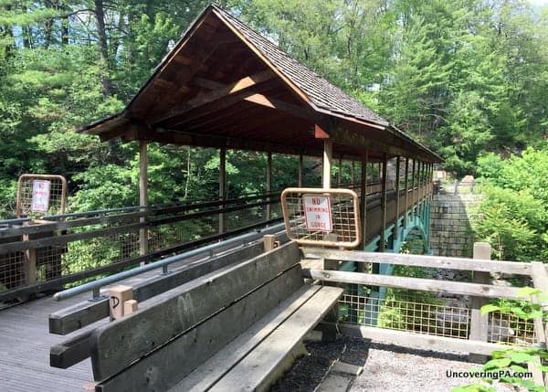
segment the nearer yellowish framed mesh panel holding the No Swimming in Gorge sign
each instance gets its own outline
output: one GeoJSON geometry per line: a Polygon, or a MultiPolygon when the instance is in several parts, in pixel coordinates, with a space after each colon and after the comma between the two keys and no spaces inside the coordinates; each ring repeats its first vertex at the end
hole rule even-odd
{"type": "Polygon", "coordinates": [[[351,190],[288,188],[281,204],[288,236],[300,244],[353,248],[361,241],[359,200],[351,190]]]}

